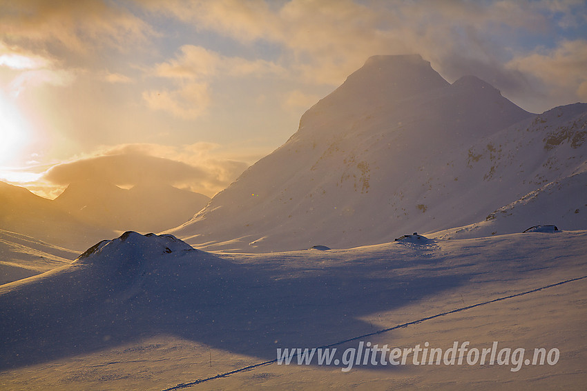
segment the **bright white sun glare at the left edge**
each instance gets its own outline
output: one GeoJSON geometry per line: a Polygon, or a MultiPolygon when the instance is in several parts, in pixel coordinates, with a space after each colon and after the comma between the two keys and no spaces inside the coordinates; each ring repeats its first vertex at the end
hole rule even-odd
{"type": "Polygon", "coordinates": [[[26,121],[17,106],[0,92],[0,166],[15,162],[28,143],[26,121]]]}

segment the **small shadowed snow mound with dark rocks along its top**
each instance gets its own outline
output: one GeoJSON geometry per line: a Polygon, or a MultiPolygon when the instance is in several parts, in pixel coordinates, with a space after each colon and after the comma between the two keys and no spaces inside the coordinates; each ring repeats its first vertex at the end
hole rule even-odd
{"type": "Polygon", "coordinates": [[[109,259],[142,259],[172,252],[195,250],[170,234],[146,234],[127,231],[113,240],[103,240],[88,248],[73,263],[104,263],[109,259]]]}

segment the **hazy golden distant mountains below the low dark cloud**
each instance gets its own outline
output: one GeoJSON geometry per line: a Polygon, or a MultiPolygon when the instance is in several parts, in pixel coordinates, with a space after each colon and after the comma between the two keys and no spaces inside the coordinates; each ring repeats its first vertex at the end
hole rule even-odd
{"type": "Polygon", "coordinates": [[[172,186],[129,190],[104,181],[72,183],[55,200],[0,182],[0,228],[83,251],[118,231],[159,232],[189,219],[209,201],[172,186]]]}

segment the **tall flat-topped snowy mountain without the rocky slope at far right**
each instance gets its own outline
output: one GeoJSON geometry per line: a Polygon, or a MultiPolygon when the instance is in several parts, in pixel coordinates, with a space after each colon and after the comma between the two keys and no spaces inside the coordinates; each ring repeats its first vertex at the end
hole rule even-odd
{"type": "MultiPolygon", "coordinates": [[[[393,84],[396,74],[368,72],[381,62],[387,64],[382,69],[410,68],[427,79],[438,75],[419,57],[367,60],[302,115],[298,131],[285,144],[216,194],[191,221],[169,232],[209,250],[266,252],[316,244],[348,248],[480,221],[532,190],[523,188],[519,194],[518,179],[512,177],[516,183],[507,188],[484,181],[487,173],[472,169],[481,158],[471,148],[500,132],[520,132],[539,115],[474,76],[418,87],[413,94],[405,86],[373,94],[356,87],[361,78],[367,86],[385,86],[377,83],[379,77],[393,84]],[[389,66],[396,60],[395,67],[389,66]],[[413,61],[418,66],[406,65],[413,61]]],[[[559,116],[555,125],[565,127],[561,121],[567,117],[559,116]]],[[[560,148],[553,146],[551,155],[560,148]]],[[[539,152],[531,160],[542,167],[541,159],[548,157],[539,152]]]]}

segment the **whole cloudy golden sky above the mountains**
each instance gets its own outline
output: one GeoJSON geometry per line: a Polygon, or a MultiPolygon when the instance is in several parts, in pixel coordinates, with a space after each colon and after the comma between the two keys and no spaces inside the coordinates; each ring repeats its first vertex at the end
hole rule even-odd
{"type": "Polygon", "coordinates": [[[378,54],[530,112],[587,101],[581,0],[0,0],[0,181],[213,196],[378,54]]]}

